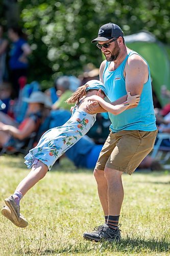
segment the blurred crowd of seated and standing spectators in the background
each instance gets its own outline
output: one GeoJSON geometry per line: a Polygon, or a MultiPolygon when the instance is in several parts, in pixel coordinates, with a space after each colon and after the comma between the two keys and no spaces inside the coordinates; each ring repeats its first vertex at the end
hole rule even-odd
{"type": "MultiPolygon", "coordinates": [[[[27,36],[20,28],[9,28],[8,38],[0,26],[0,154],[27,154],[48,129],[64,124],[71,116],[65,101],[78,87],[99,79],[99,69],[88,63],[79,77],[60,76],[54,86],[42,92],[37,81],[27,83],[29,55],[27,36]]],[[[170,134],[170,92],[164,90],[169,103],[155,108],[160,133],[170,134]]],[[[155,105],[158,100],[153,95],[155,105]]],[[[66,153],[77,167],[94,168],[111,122],[107,113],[99,113],[90,131],[66,153]]],[[[170,147],[170,141],[164,142],[170,147]]],[[[146,157],[139,168],[160,169],[159,162],[146,157]]]]}

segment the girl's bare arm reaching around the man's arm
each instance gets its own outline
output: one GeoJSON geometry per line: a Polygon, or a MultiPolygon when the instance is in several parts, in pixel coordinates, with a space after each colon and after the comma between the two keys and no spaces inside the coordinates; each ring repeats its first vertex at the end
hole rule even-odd
{"type": "Polygon", "coordinates": [[[119,104],[119,105],[112,105],[112,104],[106,102],[105,100],[103,100],[101,97],[96,96],[96,95],[91,96],[91,98],[93,100],[98,101],[98,103],[106,111],[112,113],[113,115],[118,115],[118,114],[122,113],[123,111],[125,111],[126,109],[128,109],[129,105],[137,105],[140,100],[140,95],[131,96],[130,92],[128,92],[127,101],[124,102],[123,104],[119,104]]]}

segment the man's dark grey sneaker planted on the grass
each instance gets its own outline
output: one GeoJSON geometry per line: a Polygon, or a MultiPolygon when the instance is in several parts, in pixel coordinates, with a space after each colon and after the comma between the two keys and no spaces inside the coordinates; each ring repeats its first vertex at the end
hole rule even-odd
{"type": "Polygon", "coordinates": [[[103,225],[102,228],[99,228],[98,231],[94,231],[91,233],[84,233],[83,237],[87,240],[93,240],[95,242],[99,241],[116,241],[119,242],[121,239],[120,236],[120,229],[117,227],[117,229],[114,231],[111,229],[108,225],[103,225]]]}

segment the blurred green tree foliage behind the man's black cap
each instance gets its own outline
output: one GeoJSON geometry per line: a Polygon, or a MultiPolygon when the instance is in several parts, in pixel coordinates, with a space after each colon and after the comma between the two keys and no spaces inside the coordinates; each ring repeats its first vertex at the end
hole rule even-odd
{"type": "Polygon", "coordinates": [[[101,51],[91,44],[105,23],[116,23],[129,35],[152,32],[170,43],[168,0],[19,0],[21,25],[32,45],[32,78],[78,75],[83,66],[102,61],[101,51]]]}

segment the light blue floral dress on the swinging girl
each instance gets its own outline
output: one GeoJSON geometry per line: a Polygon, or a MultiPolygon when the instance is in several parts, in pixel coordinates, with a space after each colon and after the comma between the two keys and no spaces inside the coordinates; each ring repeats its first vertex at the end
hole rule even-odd
{"type": "Polygon", "coordinates": [[[51,170],[56,160],[90,130],[95,119],[96,114],[87,114],[76,105],[70,119],[62,126],[45,132],[37,146],[25,156],[27,167],[31,168],[38,159],[51,170]]]}

